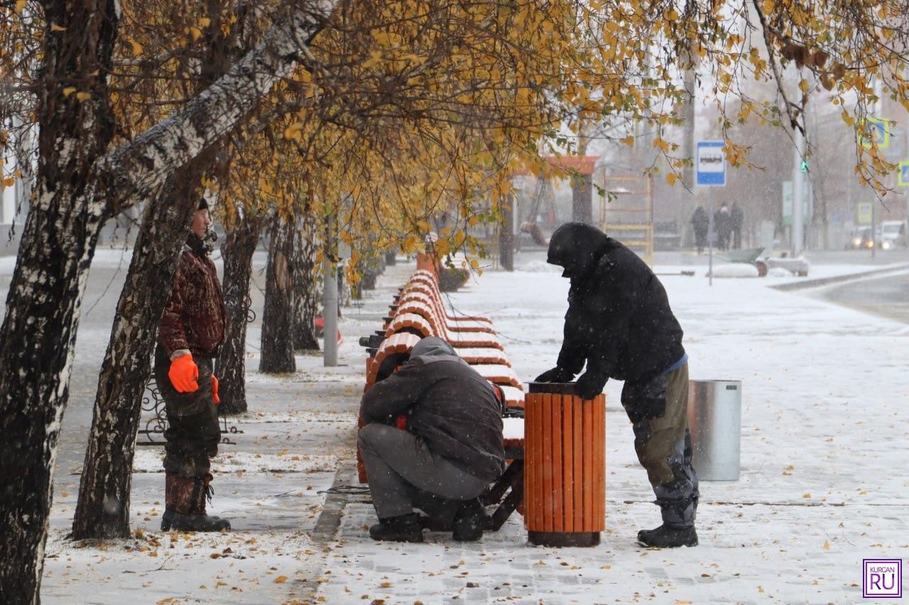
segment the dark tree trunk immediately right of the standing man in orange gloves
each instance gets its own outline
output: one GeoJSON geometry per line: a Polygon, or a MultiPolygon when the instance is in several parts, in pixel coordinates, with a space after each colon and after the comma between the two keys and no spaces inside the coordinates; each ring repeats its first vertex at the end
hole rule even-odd
{"type": "Polygon", "coordinates": [[[225,262],[225,302],[230,310],[225,342],[215,366],[220,412],[237,414],[246,406],[246,320],[249,317],[249,282],[253,253],[259,243],[263,219],[246,217],[227,233],[221,256],[225,262]]]}

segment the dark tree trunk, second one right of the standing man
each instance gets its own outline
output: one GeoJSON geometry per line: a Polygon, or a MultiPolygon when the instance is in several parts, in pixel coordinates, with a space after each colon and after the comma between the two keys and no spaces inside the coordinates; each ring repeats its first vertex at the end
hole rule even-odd
{"type": "Polygon", "coordinates": [[[295,224],[275,213],[265,270],[265,309],[262,312],[262,356],[259,372],[296,372],[294,359],[294,240],[295,224]]]}

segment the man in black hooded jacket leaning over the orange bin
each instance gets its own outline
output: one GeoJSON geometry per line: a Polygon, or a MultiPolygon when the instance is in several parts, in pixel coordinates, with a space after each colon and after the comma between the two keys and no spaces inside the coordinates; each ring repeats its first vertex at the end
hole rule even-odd
{"type": "Polygon", "coordinates": [[[593,399],[610,378],[624,381],[622,405],[634,450],[663,512],[663,525],[640,531],[645,546],[694,546],[697,475],[688,432],[688,356],[663,284],[637,254],[584,223],[565,223],[549,243],[548,263],[571,278],[564,342],[556,367],[537,382],[571,382],[593,399]]]}

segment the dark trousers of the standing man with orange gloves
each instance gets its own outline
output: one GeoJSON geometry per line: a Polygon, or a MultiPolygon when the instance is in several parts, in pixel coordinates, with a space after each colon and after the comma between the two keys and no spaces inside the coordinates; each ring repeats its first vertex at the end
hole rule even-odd
{"type": "Polygon", "coordinates": [[[217,406],[212,395],[213,360],[194,355],[193,361],[199,367],[199,389],[177,392],[167,377],[170,358],[161,347],[155,351],[155,382],[165,400],[167,413],[165,471],[186,478],[208,473],[221,441],[217,406]]]}

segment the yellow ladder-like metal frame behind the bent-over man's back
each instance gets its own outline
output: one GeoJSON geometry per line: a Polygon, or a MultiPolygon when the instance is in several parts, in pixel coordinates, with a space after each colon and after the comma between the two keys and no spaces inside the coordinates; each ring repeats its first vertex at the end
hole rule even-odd
{"type": "Polygon", "coordinates": [[[654,266],[654,181],[650,176],[603,176],[600,229],[654,266]]]}

